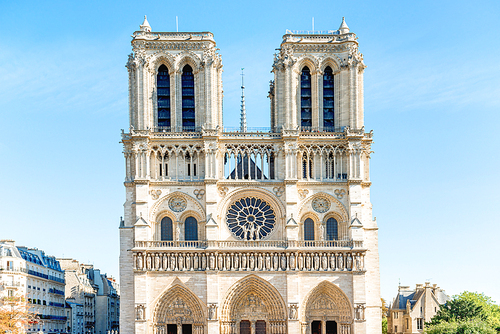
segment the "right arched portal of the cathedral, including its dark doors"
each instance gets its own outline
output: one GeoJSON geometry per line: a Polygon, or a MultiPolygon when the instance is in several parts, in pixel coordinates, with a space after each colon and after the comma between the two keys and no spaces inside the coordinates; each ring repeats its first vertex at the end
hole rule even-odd
{"type": "Polygon", "coordinates": [[[350,333],[353,308],[345,293],[335,284],[324,281],[305,298],[302,326],[307,334],[350,333]]]}

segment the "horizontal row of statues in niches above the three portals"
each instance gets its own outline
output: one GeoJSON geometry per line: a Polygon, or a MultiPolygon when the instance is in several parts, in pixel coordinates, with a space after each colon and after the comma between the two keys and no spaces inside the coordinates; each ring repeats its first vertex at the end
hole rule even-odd
{"type": "Polygon", "coordinates": [[[358,252],[137,253],[135,257],[135,270],[364,270],[364,255],[358,252]]]}

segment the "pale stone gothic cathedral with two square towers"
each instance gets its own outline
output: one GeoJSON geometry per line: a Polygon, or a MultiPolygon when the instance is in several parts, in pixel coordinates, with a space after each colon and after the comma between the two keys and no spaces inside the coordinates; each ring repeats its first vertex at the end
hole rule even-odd
{"type": "Polygon", "coordinates": [[[132,37],[121,333],[381,333],[365,65],[345,21],[286,31],[258,131],[244,98],[223,126],[212,33],[145,19],[132,37]]]}

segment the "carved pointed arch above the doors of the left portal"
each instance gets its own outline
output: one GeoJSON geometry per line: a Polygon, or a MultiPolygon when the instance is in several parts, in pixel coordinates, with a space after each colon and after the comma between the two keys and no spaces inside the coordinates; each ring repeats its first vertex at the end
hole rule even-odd
{"type": "Polygon", "coordinates": [[[199,298],[179,279],[156,300],[153,312],[155,327],[167,324],[192,324],[195,328],[205,325],[206,312],[199,298]]]}

